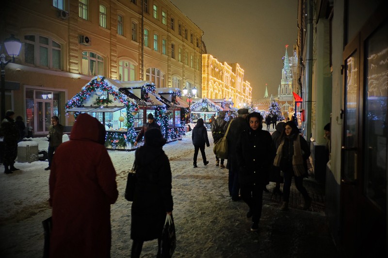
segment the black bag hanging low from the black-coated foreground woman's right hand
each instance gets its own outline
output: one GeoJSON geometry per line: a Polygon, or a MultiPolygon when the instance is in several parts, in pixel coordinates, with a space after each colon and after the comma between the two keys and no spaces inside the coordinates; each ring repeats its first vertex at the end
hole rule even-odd
{"type": "Polygon", "coordinates": [[[177,247],[177,235],[173,215],[167,214],[162,231],[161,258],[171,258],[177,247]]]}

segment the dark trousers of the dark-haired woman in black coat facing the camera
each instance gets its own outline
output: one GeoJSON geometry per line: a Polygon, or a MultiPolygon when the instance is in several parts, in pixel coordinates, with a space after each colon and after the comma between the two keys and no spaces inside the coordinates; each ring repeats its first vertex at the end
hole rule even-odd
{"type": "Polygon", "coordinates": [[[242,200],[248,205],[252,212],[252,222],[259,223],[261,211],[263,208],[263,189],[264,185],[241,185],[242,200]]]}

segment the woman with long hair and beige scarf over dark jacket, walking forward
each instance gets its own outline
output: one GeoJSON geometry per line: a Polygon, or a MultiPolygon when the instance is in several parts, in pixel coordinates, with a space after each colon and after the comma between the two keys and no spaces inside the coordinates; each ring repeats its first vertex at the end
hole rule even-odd
{"type": "Polygon", "coordinates": [[[303,177],[307,173],[307,159],[310,156],[310,148],[305,138],[299,135],[298,127],[294,121],[286,122],[279,138],[280,145],[276,152],[274,165],[280,166],[284,173],[283,204],[280,210],[287,211],[292,177],[294,177],[296,189],[305,199],[304,210],[311,205],[306,188],[303,186],[303,177]]]}

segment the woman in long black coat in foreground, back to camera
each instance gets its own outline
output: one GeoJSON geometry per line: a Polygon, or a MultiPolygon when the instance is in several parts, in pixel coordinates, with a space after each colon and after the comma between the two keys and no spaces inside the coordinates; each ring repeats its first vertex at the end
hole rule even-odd
{"type": "Polygon", "coordinates": [[[166,214],[172,214],[171,168],[162,150],[161,130],[148,129],[145,144],[135,152],[136,184],[131,210],[131,257],[138,258],[144,241],[158,239],[158,257],[166,214]]]}

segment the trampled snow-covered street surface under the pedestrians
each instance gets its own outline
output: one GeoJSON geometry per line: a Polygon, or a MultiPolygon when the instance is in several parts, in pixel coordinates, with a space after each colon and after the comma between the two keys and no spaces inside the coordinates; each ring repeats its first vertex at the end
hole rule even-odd
{"type": "MultiPolygon", "coordinates": [[[[174,219],[177,248],[173,257],[336,257],[335,246],[325,224],[324,194],[307,180],[313,205],[310,211],[298,207],[303,199],[291,188],[291,209],[282,212],[280,198],[272,196],[274,183],[267,185],[259,232],[250,232],[251,221],[245,217],[247,206],[230,200],[227,169],[215,166],[213,143],[205,149],[208,166],[198,155],[193,168],[194,146],[190,133],[163,149],[172,170],[174,219]],[[315,188],[314,188],[315,187],[315,188]]],[[[119,197],[111,208],[111,257],[129,257],[130,207],[124,198],[127,174],[134,152],[109,151],[117,173],[119,197]]],[[[152,162],[152,161],[150,161],[152,162]]],[[[47,161],[16,163],[20,170],[6,175],[0,170],[0,257],[40,258],[43,255],[42,221],[50,216],[49,171],[47,161]]],[[[55,227],[55,226],[54,226],[55,227]]],[[[157,241],[146,242],[142,257],[155,257],[157,241]]]]}

